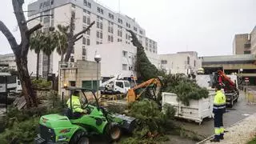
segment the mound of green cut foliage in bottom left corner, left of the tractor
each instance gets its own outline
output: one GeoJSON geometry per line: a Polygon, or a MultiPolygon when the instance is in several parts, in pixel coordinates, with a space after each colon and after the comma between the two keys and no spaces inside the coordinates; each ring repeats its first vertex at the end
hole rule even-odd
{"type": "Polygon", "coordinates": [[[50,106],[38,106],[34,109],[18,110],[10,106],[5,118],[0,123],[6,129],[0,134],[1,143],[30,143],[38,133],[38,122],[41,115],[59,113],[62,110],[56,91],[47,96],[50,106]],[[53,101],[54,100],[54,101],[53,101]],[[54,103],[53,103],[54,102],[54,103]]]}

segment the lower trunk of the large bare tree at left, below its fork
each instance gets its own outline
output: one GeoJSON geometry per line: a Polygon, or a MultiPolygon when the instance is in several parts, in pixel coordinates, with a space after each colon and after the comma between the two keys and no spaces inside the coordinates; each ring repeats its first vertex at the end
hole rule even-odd
{"type": "Polygon", "coordinates": [[[26,99],[26,106],[28,108],[38,106],[38,101],[31,87],[32,82],[30,80],[30,74],[27,69],[27,58],[19,58],[18,55],[15,56],[19,77],[22,82],[22,92],[24,93],[24,97],[26,99]]]}

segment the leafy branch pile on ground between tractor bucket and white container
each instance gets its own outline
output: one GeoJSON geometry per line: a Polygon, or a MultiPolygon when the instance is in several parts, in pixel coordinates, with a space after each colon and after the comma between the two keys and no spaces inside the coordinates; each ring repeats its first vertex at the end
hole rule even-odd
{"type": "Polygon", "coordinates": [[[159,110],[156,102],[148,99],[132,103],[129,115],[138,119],[137,127],[133,136],[123,139],[121,143],[158,143],[160,139],[168,140],[164,134],[173,128],[175,110],[170,105],[164,106],[163,109],[165,113],[159,110]]]}

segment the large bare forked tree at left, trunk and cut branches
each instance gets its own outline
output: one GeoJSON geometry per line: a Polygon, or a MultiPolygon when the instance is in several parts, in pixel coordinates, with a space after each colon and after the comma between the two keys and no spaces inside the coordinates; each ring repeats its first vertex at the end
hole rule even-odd
{"type": "Polygon", "coordinates": [[[0,21],[0,30],[2,31],[2,34],[5,35],[8,42],[10,43],[11,49],[14,51],[18,74],[22,82],[22,90],[26,99],[26,106],[30,108],[33,106],[38,106],[38,101],[31,87],[32,85],[30,80],[30,74],[27,69],[27,54],[30,47],[30,35],[34,33],[34,31],[42,28],[42,25],[38,24],[29,29],[27,26],[27,23],[29,21],[26,21],[26,18],[22,10],[24,0],[12,0],[12,4],[14,7],[14,14],[17,19],[18,27],[21,34],[21,42],[18,44],[18,42],[14,38],[14,35],[10,33],[10,30],[2,21],[0,21]]]}

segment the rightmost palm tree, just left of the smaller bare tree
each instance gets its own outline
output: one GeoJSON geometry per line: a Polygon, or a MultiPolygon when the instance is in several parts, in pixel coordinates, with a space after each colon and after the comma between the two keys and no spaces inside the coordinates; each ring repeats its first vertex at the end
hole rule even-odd
{"type": "Polygon", "coordinates": [[[57,44],[57,52],[59,55],[61,55],[61,61],[63,61],[64,54],[66,54],[68,42],[67,42],[67,34],[70,26],[62,26],[58,25],[58,30],[56,31],[56,36],[58,38],[58,44],[57,44]]]}

